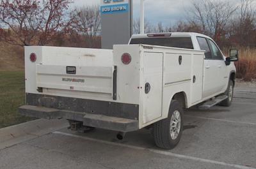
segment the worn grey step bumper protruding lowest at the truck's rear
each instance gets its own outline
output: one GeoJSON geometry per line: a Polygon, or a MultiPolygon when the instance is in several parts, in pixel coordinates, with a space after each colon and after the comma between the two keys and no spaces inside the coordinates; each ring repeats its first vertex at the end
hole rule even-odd
{"type": "Polygon", "coordinates": [[[37,117],[41,119],[70,119],[74,121],[82,121],[84,126],[95,128],[109,129],[113,131],[136,131],[139,129],[139,122],[132,119],[124,119],[120,117],[111,117],[102,114],[87,114],[81,112],[73,112],[70,110],[59,110],[56,108],[37,107],[24,105],[19,107],[19,112],[28,117],[37,117]]]}

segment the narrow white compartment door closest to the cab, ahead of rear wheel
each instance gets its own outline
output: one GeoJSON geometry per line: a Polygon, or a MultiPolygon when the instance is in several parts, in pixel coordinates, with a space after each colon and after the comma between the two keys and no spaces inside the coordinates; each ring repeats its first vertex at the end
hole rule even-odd
{"type": "Polygon", "coordinates": [[[204,55],[192,55],[191,103],[202,99],[204,55]]]}

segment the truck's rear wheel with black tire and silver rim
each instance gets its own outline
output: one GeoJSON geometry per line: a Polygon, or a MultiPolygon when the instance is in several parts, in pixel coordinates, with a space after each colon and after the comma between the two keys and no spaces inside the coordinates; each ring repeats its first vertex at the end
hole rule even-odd
{"type": "Polygon", "coordinates": [[[183,108],[179,101],[173,100],[168,118],[158,121],[153,126],[153,135],[157,147],[173,149],[179,142],[183,130],[183,108]]]}

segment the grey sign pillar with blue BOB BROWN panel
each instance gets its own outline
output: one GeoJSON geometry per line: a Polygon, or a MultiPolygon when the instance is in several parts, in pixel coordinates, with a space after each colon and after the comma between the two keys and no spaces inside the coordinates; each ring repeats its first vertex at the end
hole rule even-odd
{"type": "Polygon", "coordinates": [[[127,44],[132,36],[132,0],[100,0],[101,46],[127,44]]]}

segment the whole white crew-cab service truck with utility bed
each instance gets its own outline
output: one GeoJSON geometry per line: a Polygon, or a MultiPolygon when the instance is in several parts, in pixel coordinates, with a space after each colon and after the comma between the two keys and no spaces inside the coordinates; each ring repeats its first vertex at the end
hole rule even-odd
{"type": "Polygon", "coordinates": [[[230,106],[237,50],[225,57],[198,33],[138,34],[113,50],[25,47],[22,115],[65,118],[74,130],[125,132],[151,128],[158,147],[172,149],[183,109],[230,106]]]}

